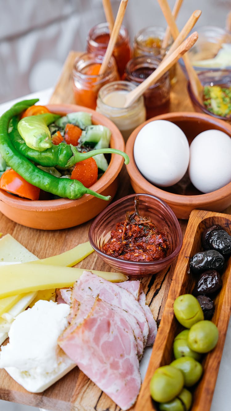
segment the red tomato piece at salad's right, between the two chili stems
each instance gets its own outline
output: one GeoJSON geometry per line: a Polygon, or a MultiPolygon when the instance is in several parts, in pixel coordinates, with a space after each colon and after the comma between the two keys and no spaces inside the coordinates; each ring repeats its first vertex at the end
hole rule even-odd
{"type": "Polygon", "coordinates": [[[98,178],[98,167],[93,157],[75,164],[71,173],[72,180],[79,180],[85,187],[89,188],[98,178]]]}

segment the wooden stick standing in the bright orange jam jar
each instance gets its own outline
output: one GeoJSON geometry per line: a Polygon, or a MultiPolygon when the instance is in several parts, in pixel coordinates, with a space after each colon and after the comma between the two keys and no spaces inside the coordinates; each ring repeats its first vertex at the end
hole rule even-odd
{"type": "Polygon", "coordinates": [[[108,66],[109,60],[111,58],[111,55],[113,53],[114,46],[117,42],[117,37],[119,35],[119,30],[121,28],[122,21],[124,19],[124,14],[125,10],[128,4],[128,0],[121,0],[120,5],[119,5],[119,10],[115,19],[114,27],[112,30],[112,34],[109,40],[109,43],[107,45],[107,50],[105,53],[105,56],[103,58],[103,63],[101,65],[101,68],[99,70],[99,74],[103,74],[108,66]]]}

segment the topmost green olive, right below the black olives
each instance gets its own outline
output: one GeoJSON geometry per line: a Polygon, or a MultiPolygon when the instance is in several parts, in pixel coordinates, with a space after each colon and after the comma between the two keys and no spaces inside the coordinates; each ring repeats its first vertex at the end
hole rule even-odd
{"type": "Polygon", "coordinates": [[[176,319],[185,328],[190,328],[198,321],[204,320],[199,301],[192,294],[183,294],[177,297],[173,309],[176,319]]]}

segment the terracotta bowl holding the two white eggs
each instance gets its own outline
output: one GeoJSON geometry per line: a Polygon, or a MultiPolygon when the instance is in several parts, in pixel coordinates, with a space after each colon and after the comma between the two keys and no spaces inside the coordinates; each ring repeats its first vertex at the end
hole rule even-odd
{"type": "Polygon", "coordinates": [[[140,129],[153,120],[172,121],[183,130],[188,138],[189,144],[199,133],[209,129],[221,130],[231,137],[231,125],[206,114],[186,112],[167,113],[149,119],[133,131],[126,143],[126,153],[130,157],[127,170],[134,191],[136,193],[143,192],[160,197],[172,208],[178,218],[183,219],[188,219],[190,212],[195,208],[222,211],[228,207],[231,204],[231,182],[216,191],[202,194],[190,183],[188,178],[183,178],[178,184],[172,187],[165,187],[164,189],[154,186],[144,178],[135,164],[133,147],[140,129]]]}

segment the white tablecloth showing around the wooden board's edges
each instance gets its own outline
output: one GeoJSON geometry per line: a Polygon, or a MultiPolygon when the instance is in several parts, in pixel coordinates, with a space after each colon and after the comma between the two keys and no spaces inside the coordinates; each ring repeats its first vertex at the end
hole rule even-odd
{"type": "MultiPolygon", "coordinates": [[[[50,96],[52,95],[52,92],[53,89],[49,88],[37,93],[21,97],[20,99],[12,100],[11,102],[0,104],[0,115],[4,113],[4,111],[9,109],[14,103],[27,98],[39,98],[39,104],[47,104],[50,99],[50,96]]],[[[148,347],[148,349],[146,349],[145,351],[144,358],[142,358],[140,365],[142,379],[144,379],[150,355],[151,348],[148,347]]],[[[203,410],[201,409],[200,411],[203,410]]],[[[231,321],[229,322],[229,328],[226,335],[224,351],[222,354],[222,360],[220,364],[215,392],[213,395],[213,402],[210,411],[231,411],[231,321]]]]}

